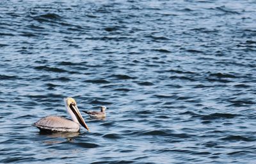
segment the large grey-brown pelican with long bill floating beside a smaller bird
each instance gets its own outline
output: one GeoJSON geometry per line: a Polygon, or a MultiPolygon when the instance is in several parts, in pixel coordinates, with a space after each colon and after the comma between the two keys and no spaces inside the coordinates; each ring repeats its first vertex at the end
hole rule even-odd
{"type": "Polygon", "coordinates": [[[77,132],[80,130],[79,124],[81,124],[84,128],[86,128],[86,130],[89,131],[88,126],[84,122],[84,119],[77,108],[74,98],[64,98],[64,102],[65,107],[67,108],[67,111],[72,117],[73,121],[60,116],[47,116],[38,120],[33,125],[36,126],[40,131],[77,132]]]}

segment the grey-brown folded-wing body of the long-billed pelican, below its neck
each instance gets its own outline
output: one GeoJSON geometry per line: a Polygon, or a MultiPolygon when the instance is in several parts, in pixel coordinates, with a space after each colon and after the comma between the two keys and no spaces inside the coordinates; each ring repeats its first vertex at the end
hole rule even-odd
{"type": "Polygon", "coordinates": [[[79,124],[59,116],[47,116],[34,123],[40,130],[51,131],[78,131],[79,124]],[[78,129],[78,130],[77,130],[78,129]]]}

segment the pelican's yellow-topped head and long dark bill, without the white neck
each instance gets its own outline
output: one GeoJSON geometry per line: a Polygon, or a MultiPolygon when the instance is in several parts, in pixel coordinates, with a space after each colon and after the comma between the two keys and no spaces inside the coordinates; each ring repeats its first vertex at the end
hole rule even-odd
{"type": "Polygon", "coordinates": [[[81,116],[81,113],[79,112],[79,110],[77,108],[76,101],[73,98],[67,98],[66,101],[67,101],[68,108],[70,108],[72,113],[76,116],[76,119],[79,122],[79,124],[81,124],[84,128],[86,128],[86,130],[89,131],[88,126],[84,122],[84,119],[81,116]]]}

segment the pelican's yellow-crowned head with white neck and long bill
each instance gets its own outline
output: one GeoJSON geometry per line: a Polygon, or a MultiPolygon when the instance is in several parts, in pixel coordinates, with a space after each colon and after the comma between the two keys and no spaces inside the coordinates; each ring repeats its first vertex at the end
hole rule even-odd
{"type": "Polygon", "coordinates": [[[78,107],[76,105],[76,101],[74,100],[74,98],[64,98],[64,102],[65,102],[65,107],[67,108],[68,113],[72,117],[73,121],[76,122],[77,124],[81,124],[84,128],[86,128],[86,130],[89,131],[88,126],[84,122],[84,119],[78,110],[78,107]]]}

